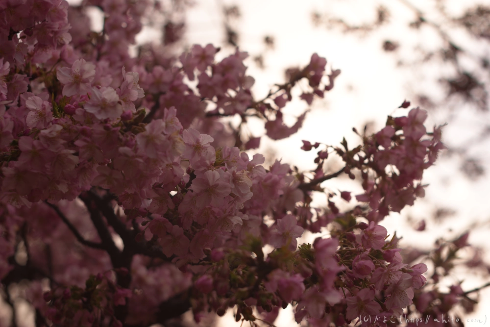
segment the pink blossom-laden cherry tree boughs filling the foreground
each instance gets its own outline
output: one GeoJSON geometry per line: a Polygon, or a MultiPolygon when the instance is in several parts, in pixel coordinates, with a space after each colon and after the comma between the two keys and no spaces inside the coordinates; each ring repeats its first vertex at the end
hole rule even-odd
{"type": "MultiPolygon", "coordinates": [[[[291,90],[307,81],[300,98],[311,104],[340,71],[327,74],[314,54],[256,100],[245,52],[215,61],[212,45],[178,57],[153,46],[130,57],[154,6],[0,0],[7,305],[14,293],[25,299],[36,326],[150,326],[188,310],[199,322],[228,308],[237,322],[272,325],[290,304],[298,323],[392,326],[404,312],[435,316],[470,300],[459,285],[439,291],[436,273],[422,288],[426,265],[402,262],[398,238],[378,225],[424,195],[423,171],[444,148],[440,127],[426,131],[425,111],[389,117],[355,148],[303,141],[303,150],[319,149],[310,173],[280,161],[264,167],[261,154],[244,152],[260,141],[243,134],[247,118],[264,121],[271,139],[292,135],[305,113],[291,127],[283,122],[291,90]],[[100,33],[88,27],[89,5],[104,12],[100,33]],[[241,123],[226,126],[223,116],[241,123]],[[344,163],[332,174],[329,155],[344,163]],[[357,205],[343,191],[315,207],[320,183],[342,174],[362,180],[357,205]],[[353,204],[342,211],[338,201],[353,204]],[[305,231],[327,226],[328,237],[298,247],[305,231]],[[273,250],[264,253],[266,245],[273,250]]],[[[466,239],[442,246],[455,256],[466,239]]]]}

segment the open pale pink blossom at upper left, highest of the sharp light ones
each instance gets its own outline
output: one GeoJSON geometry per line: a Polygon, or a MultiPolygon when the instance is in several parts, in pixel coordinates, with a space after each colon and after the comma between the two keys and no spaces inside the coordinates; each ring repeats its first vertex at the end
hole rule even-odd
{"type": "Polygon", "coordinates": [[[65,85],[63,87],[64,96],[87,94],[91,91],[91,82],[95,77],[95,65],[84,59],[78,59],[73,62],[72,68],[58,68],[56,77],[65,85]]]}

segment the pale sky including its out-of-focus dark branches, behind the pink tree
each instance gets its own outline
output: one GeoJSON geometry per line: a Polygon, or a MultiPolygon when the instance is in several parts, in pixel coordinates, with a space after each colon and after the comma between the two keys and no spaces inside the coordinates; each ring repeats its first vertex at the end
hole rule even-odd
{"type": "MultiPolygon", "coordinates": [[[[357,145],[360,139],[352,127],[381,128],[388,115],[407,114],[408,109],[398,109],[404,100],[429,112],[428,129],[447,123],[443,141],[448,150],[424,175],[424,184],[429,184],[425,198],[393,213],[382,225],[389,234],[396,231],[403,237],[406,253],[417,246],[413,251],[419,255],[441,238],[453,240],[469,231],[468,241],[475,248],[458,259],[461,267],[447,276],[441,273],[441,284],[462,282],[466,291],[489,281],[489,0],[162,0],[160,5],[164,15],[148,16],[139,44],[162,43],[179,53],[193,44],[212,43],[221,46],[218,59],[239,47],[249,53],[246,63],[248,75],[255,78],[256,99],[284,82],[286,69],[308,64],[314,52],[327,59],[329,68],[342,71],[324,99],[317,98],[310,107],[304,101],[288,104],[286,124],[310,110],[292,137],[272,141],[264,136],[263,124],[249,121],[246,133],[262,136],[256,152],[266,156],[266,166],[282,158],[300,171],[314,169],[316,153],[302,151],[301,140],[336,146],[345,137],[349,145],[357,145]]],[[[95,6],[87,11],[92,29],[100,31],[102,12],[95,6]]],[[[341,162],[335,159],[325,166],[327,173],[339,168],[341,162]]],[[[362,192],[357,181],[342,177],[322,186],[354,195],[362,192]]],[[[314,200],[321,205],[326,196],[314,200]]],[[[298,242],[311,242],[316,236],[305,235],[298,242]]],[[[423,262],[432,274],[429,261],[423,262]]],[[[481,291],[474,312],[465,314],[461,308],[460,314],[486,320],[489,290],[481,291]]],[[[239,326],[231,310],[220,322],[201,325],[206,324],[239,326]]],[[[291,307],[280,313],[275,325],[296,326],[291,307]]]]}

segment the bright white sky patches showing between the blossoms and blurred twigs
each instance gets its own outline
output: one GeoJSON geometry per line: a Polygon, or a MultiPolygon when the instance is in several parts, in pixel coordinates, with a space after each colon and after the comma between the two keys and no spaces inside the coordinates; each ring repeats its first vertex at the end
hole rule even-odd
{"type": "MultiPolygon", "coordinates": [[[[437,16],[431,16],[434,10],[432,0],[411,0],[414,5],[424,11],[430,19],[438,21],[437,16]]],[[[78,1],[70,1],[75,3],[78,1]]],[[[327,59],[328,67],[341,69],[341,75],[336,79],[333,90],[325,94],[324,100],[317,99],[311,107],[311,112],[298,133],[287,140],[272,142],[263,137],[261,148],[258,152],[266,153],[270,149],[278,158],[284,162],[294,164],[300,170],[313,169],[315,151],[305,152],[300,150],[301,140],[312,142],[323,142],[330,145],[339,145],[343,137],[354,145],[358,137],[352,132],[352,127],[362,130],[366,122],[374,122],[375,128],[384,126],[387,115],[402,115],[408,111],[396,110],[404,99],[410,99],[415,92],[425,90],[427,94],[443,97],[440,88],[427,81],[425,77],[440,74],[440,70],[430,68],[427,70],[414,70],[410,68],[397,69],[398,57],[393,53],[386,53],[381,49],[382,41],[390,39],[400,42],[400,55],[410,61],[415,57],[413,46],[421,41],[427,46],[433,45],[436,49],[440,38],[433,30],[427,29],[423,33],[407,33],[407,25],[413,21],[414,14],[407,9],[401,1],[391,0],[390,10],[396,22],[390,22],[382,26],[373,37],[359,37],[358,34],[345,35],[338,30],[327,30],[324,26],[314,27],[311,17],[314,11],[329,13],[331,16],[342,17],[349,23],[360,25],[363,22],[371,22],[375,19],[376,4],[382,1],[374,0],[246,0],[246,1],[219,1],[219,0],[196,0],[196,5],[187,12],[186,40],[189,44],[206,45],[212,43],[216,46],[223,44],[224,34],[220,3],[237,4],[240,7],[242,17],[239,20],[238,31],[240,35],[239,44],[241,50],[248,51],[252,56],[265,49],[263,38],[266,35],[274,37],[275,50],[268,51],[265,55],[266,70],[258,69],[253,60],[249,59],[248,74],[252,75],[256,82],[254,95],[262,98],[267,95],[274,83],[284,82],[284,69],[292,66],[304,66],[317,52],[327,59]]],[[[461,13],[462,4],[482,1],[446,1],[451,13],[461,13]]],[[[466,8],[466,7],[465,7],[466,8]]],[[[97,15],[97,10],[94,10],[97,15]]],[[[97,25],[97,24],[96,24],[97,25]]],[[[99,29],[98,26],[94,26],[99,29]]],[[[99,26],[101,27],[101,26],[99,26]]],[[[467,49],[480,53],[478,44],[468,39],[467,34],[461,32],[451,35],[457,41],[465,44],[467,49]]],[[[158,31],[145,29],[138,37],[140,42],[149,40],[160,40],[158,31]]],[[[224,55],[233,51],[223,48],[220,54],[224,55]]],[[[488,56],[488,53],[486,53],[488,56]]],[[[451,71],[448,70],[448,73],[451,71]]],[[[429,78],[430,79],[430,78],[429,78]]],[[[413,104],[414,103],[412,102],[413,104]]],[[[461,105],[461,104],[459,104],[461,105]]],[[[289,103],[286,107],[285,121],[289,117],[299,116],[307,105],[304,101],[289,103]]],[[[430,112],[426,126],[431,128],[434,124],[443,124],[446,118],[444,111],[430,112]]],[[[476,125],[489,121],[489,116],[476,115],[473,109],[461,106],[458,110],[457,119],[453,120],[451,126],[444,130],[444,140],[449,144],[463,144],[462,142],[471,137],[471,130],[476,125]]],[[[289,123],[291,124],[291,120],[289,123]]],[[[250,124],[250,130],[254,136],[264,133],[263,124],[250,124]]],[[[490,159],[486,149],[490,144],[487,142],[480,147],[477,153],[484,153],[485,159],[490,159]]],[[[481,156],[481,155],[480,155],[481,156]]],[[[488,160],[487,160],[488,161],[488,160]]],[[[490,181],[488,177],[480,178],[477,182],[470,182],[459,173],[460,162],[445,160],[434,168],[431,168],[424,176],[424,182],[430,183],[426,189],[426,199],[418,201],[414,207],[404,209],[402,215],[392,214],[382,223],[387,227],[390,234],[396,230],[398,236],[403,236],[402,246],[418,244],[426,249],[431,249],[437,237],[444,236],[451,239],[463,233],[470,222],[481,222],[489,219],[490,181]],[[432,212],[437,207],[447,207],[461,212],[453,218],[447,219],[443,225],[435,225],[428,221],[432,212]],[[422,219],[427,221],[427,230],[416,232],[412,225],[407,223],[404,217],[411,216],[415,223],[422,219]],[[452,230],[452,231],[450,231],[452,230]]],[[[487,168],[490,165],[487,164],[487,168]]],[[[337,167],[332,168],[332,170],[337,167]]],[[[332,187],[332,190],[341,188],[346,191],[354,191],[359,194],[361,188],[348,179],[328,181],[324,186],[332,187]],[[327,184],[329,183],[329,184],[327,184]]],[[[324,197],[316,197],[319,203],[325,202],[324,197]]],[[[489,228],[472,230],[470,243],[486,246],[485,236],[489,228]]],[[[303,241],[310,241],[303,240],[303,241]]],[[[488,248],[488,246],[487,246],[488,248]]],[[[489,257],[487,256],[487,261],[489,257]]],[[[465,279],[463,289],[469,290],[480,286],[488,280],[467,275],[449,277],[454,283],[465,279]]],[[[482,292],[483,301],[479,309],[468,316],[468,318],[483,319],[490,312],[486,308],[490,305],[490,293],[482,292]]],[[[235,326],[231,313],[228,319],[223,319],[221,326],[235,326]]],[[[490,318],[490,317],[489,317],[490,318]]],[[[293,314],[288,307],[280,313],[276,326],[295,326],[293,314]]],[[[466,326],[475,326],[474,323],[466,323],[466,326]]],[[[238,323],[236,326],[240,326],[238,323]]]]}

